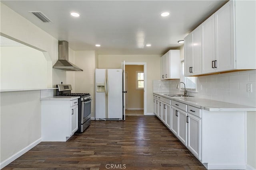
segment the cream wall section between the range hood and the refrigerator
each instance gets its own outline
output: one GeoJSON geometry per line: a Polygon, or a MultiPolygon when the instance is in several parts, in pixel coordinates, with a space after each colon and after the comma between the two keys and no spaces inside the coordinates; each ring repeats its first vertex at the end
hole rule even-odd
{"type": "Polygon", "coordinates": [[[91,117],[95,117],[95,51],[74,51],[75,62],[84,71],[75,72],[76,93],[90,93],[92,96],[91,117]]]}

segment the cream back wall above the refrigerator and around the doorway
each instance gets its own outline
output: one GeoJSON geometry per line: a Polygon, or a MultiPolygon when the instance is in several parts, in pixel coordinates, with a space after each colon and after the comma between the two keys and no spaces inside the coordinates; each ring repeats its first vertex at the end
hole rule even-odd
{"type": "Polygon", "coordinates": [[[160,57],[162,55],[99,55],[98,68],[121,68],[121,63],[147,63],[147,113],[153,113],[153,80],[160,79],[160,57]]]}

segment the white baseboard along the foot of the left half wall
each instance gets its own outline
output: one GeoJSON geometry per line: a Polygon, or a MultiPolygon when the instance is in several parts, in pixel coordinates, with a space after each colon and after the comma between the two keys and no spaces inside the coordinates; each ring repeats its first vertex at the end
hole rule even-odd
{"type": "Polygon", "coordinates": [[[6,165],[10,164],[12,161],[17,159],[18,157],[22,156],[24,153],[28,152],[28,150],[34,148],[36,145],[38,145],[42,141],[42,138],[39,138],[38,140],[34,141],[27,147],[23,148],[22,150],[16,152],[14,155],[10,156],[6,160],[0,163],[0,169],[4,168],[6,165]]]}

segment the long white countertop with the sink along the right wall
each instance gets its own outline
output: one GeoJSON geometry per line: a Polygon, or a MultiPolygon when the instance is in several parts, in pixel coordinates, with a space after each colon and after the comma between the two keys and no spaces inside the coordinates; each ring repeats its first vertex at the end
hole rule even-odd
{"type": "Polygon", "coordinates": [[[256,111],[256,107],[220,102],[216,100],[197,97],[169,97],[164,95],[168,93],[161,92],[154,92],[154,94],[208,111],[256,111]]]}

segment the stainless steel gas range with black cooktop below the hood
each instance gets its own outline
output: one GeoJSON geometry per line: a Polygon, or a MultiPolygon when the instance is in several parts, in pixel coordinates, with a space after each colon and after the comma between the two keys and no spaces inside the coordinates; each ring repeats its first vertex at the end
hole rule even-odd
{"type": "Polygon", "coordinates": [[[91,123],[91,102],[89,93],[71,93],[71,84],[57,84],[56,96],[80,96],[78,99],[78,130],[82,133],[91,123]]]}

